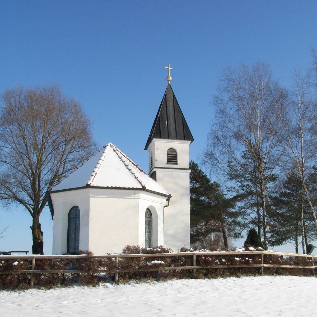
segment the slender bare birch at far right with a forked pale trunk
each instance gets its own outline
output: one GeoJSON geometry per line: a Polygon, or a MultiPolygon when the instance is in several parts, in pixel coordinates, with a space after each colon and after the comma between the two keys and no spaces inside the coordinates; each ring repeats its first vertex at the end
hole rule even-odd
{"type": "MultiPolygon", "coordinates": [[[[317,104],[312,94],[312,75],[297,73],[289,97],[276,102],[276,112],[281,121],[280,144],[284,148],[283,170],[291,175],[296,171],[301,182],[301,235],[305,254],[304,196],[307,198],[317,229],[317,218],[307,182],[317,157],[316,124],[317,104]]],[[[307,241],[307,240],[306,240],[307,241]]],[[[307,242],[306,242],[307,249],[307,242]]]]}

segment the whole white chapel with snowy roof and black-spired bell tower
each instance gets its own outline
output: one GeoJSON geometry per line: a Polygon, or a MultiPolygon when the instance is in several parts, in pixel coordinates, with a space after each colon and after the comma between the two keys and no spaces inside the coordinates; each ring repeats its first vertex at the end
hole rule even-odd
{"type": "Polygon", "coordinates": [[[108,143],[47,192],[53,254],[119,253],[127,244],[174,251],[190,246],[189,146],[194,139],[170,76],[167,81],[145,146],[148,174],[108,143]]]}

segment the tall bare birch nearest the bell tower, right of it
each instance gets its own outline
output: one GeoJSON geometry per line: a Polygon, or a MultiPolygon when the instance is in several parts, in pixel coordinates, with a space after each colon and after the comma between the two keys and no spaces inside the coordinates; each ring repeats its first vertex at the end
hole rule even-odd
{"type": "MultiPolygon", "coordinates": [[[[267,191],[279,155],[274,95],[280,91],[268,65],[227,68],[213,98],[215,123],[204,160],[258,198],[264,246],[268,246],[267,191]],[[248,159],[246,160],[246,153],[248,159]],[[238,175],[232,178],[232,175],[238,175]]],[[[258,215],[252,216],[257,219],[258,215]]]]}

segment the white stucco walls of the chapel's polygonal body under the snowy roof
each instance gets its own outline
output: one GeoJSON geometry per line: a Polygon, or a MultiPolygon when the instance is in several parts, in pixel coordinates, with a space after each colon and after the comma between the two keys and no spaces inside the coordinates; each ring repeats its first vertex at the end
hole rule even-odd
{"type": "Polygon", "coordinates": [[[145,212],[153,218],[153,246],[164,244],[166,197],[142,190],[87,188],[51,194],[54,206],[53,254],[67,250],[68,212],[79,206],[80,249],[119,253],[127,245],[145,245],[145,212]]]}

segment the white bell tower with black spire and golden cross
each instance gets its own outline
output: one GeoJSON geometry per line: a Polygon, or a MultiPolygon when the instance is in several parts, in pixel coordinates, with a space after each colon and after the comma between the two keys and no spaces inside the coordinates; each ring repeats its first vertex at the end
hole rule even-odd
{"type": "Polygon", "coordinates": [[[164,208],[164,246],[177,251],[190,247],[189,146],[194,141],[168,81],[145,150],[149,153],[149,175],[170,192],[164,208]]]}

